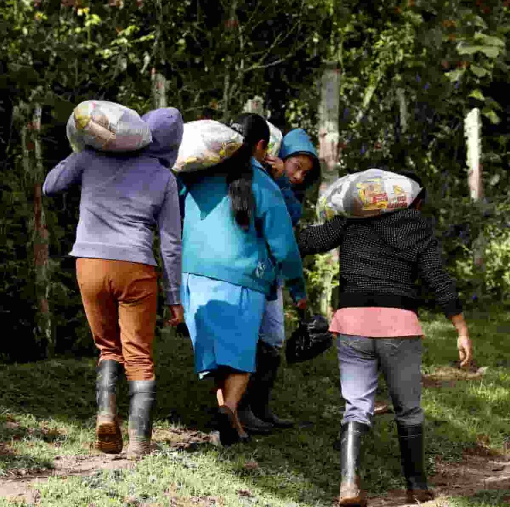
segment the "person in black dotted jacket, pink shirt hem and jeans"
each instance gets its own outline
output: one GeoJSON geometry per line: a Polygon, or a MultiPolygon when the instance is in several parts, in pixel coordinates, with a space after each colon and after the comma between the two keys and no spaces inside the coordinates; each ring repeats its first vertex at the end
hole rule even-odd
{"type": "MultiPolygon", "coordinates": [[[[417,181],[413,173],[399,173],[417,181]]],[[[410,502],[433,498],[424,464],[421,408],[422,329],[416,276],[457,332],[461,366],[472,345],[455,282],[443,266],[438,240],[420,210],[422,189],[410,208],[365,219],[335,217],[298,235],[302,255],[340,247],[340,309],[329,331],[337,340],[346,406],[340,439],[340,505],[366,505],[360,486],[360,448],[372,425],[378,364],[395,408],[402,469],[410,502]]]]}

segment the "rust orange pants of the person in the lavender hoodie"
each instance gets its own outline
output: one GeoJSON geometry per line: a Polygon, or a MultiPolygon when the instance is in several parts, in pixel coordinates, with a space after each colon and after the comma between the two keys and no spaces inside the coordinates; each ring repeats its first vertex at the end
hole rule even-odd
{"type": "Polygon", "coordinates": [[[155,267],[79,258],[76,274],[99,361],[112,359],[123,364],[127,380],[154,380],[155,267]]]}

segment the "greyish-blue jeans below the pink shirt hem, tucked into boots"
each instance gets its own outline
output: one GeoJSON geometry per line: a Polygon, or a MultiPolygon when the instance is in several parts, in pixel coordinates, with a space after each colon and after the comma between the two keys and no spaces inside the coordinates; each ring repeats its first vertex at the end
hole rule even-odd
{"type": "Polygon", "coordinates": [[[379,367],[388,384],[396,421],[404,426],[423,423],[420,337],[366,338],[339,334],[337,351],[345,399],[342,424],[357,421],[371,426],[379,367]]]}

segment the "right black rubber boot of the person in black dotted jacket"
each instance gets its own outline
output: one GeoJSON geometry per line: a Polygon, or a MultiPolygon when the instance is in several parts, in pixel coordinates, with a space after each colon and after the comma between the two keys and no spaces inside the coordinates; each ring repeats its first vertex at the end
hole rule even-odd
{"type": "Polygon", "coordinates": [[[402,470],[407,481],[407,500],[425,502],[434,495],[428,489],[425,474],[423,425],[403,426],[397,423],[402,457],[402,470]]]}

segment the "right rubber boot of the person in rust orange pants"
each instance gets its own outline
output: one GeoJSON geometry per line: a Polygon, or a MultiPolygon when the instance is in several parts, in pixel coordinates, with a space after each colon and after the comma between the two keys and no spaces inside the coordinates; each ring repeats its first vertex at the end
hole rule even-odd
{"type": "Polygon", "coordinates": [[[129,381],[129,448],[128,458],[141,458],[150,452],[152,417],[156,408],[156,381],[129,381]]]}

